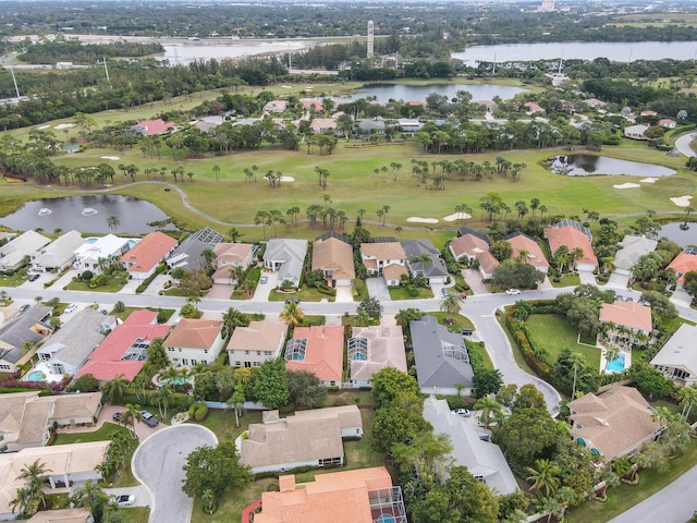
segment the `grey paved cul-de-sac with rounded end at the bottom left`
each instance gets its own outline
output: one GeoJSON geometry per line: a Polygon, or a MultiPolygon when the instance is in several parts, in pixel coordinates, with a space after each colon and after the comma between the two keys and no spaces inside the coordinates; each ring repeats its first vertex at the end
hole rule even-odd
{"type": "Polygon", "coordinates": [[[204,445],[218,445],[200,425],[176,425],[150,436],[133,454],[133,473],[151,492],[149,523],[188,523],[193,500],[182,491],[186,457],[204,445]]]}

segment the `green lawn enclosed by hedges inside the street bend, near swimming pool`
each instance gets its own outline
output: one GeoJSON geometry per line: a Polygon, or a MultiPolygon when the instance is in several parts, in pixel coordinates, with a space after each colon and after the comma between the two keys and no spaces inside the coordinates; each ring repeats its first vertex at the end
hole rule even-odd
{"type": "Polygon", "coordinates": [[[600,370],[600,349],[576,343],[578,332],[558,314],[534,314],[527,318],[527,327],[536,344],[547,349],[547,363],[553,365],[562,349],[571,349],[584,355],[588,365],[600,370]]]}

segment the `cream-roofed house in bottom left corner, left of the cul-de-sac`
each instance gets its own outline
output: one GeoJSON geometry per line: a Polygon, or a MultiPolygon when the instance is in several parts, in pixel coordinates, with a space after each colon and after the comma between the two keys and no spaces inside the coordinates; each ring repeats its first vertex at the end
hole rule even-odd
{"type": "Polygon", "coordinates": [[[26,488],[26,479],[20,479],[22,471],[37,460],[45,465],[48,485],[46,494],[57,494],[76,482],[88,479],[98,482],[101,473],[96,471],[107,459],[111,441],[91,441],[86,443],[56,445],[34,447],[20,452],[0,454],[0,521],[14,520],[12,500],[17,490],[26,488]]]}

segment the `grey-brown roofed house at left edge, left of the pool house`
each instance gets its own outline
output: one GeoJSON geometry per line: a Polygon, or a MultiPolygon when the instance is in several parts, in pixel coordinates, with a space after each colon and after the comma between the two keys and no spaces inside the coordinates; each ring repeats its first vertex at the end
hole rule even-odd
{"type": "Polygon", "coordinates": [[[36,346],[51,333],[50,315],[51,307],[34,305],[0,328],[0,373],[14,373],[29,361],[24,344],[36,346]]]}

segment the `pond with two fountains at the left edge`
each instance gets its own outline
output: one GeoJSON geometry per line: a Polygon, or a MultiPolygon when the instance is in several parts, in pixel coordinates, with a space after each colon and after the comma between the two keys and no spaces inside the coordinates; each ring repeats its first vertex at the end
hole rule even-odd
{"type": "MultiPolygon", "coordinates": [[[[20,231],[41,228],[52,232],[60,228],[63,232],[74,229],[80,232],[145,234],[158,229],[148,223],[168,219],[162,210],[144,199],[102,194],[27,202],[20,210],[0,218],[0,224],[20,231]],[[107,218],[110,216],[119,218],[119,227],[109,229],[107,218]]],[[[167,228],[175,229],[172,224],[167,228]]]]}

